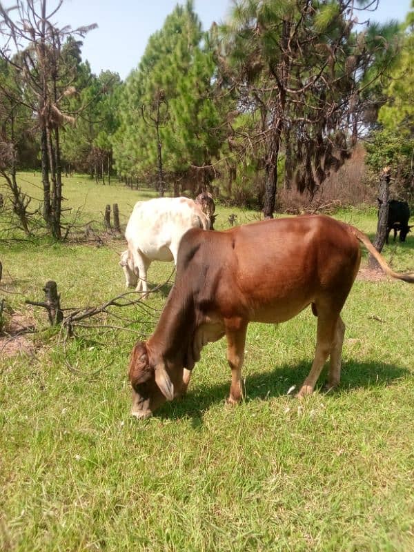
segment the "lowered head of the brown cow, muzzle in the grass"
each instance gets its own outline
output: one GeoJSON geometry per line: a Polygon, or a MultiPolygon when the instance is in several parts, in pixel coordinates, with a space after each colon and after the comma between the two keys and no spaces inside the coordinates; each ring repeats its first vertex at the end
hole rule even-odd
{"type": "Polygon", "coordinates": [[[184,370],[169,374],[164,362],[152,362],[145,342],[132,349],[129,378],[132,386],[132,411],[137,418],[150,417],[166,400],[172,401],[183,391],[184,370]]]}

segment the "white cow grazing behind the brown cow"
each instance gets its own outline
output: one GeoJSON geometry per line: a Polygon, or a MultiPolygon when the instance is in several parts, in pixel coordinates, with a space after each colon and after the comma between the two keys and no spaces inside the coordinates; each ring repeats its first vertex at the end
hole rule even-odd
{"type": "Polygon", "coordinates": [[[181,237],[190,228],[210,228],[210,221],[200,206],[187,197],[159,197],[138,201],[125,237],[128,249],[121,253],[126,287],[148,291],[147,270],[152,261],[174,261],[177,264],[181,237]]]}

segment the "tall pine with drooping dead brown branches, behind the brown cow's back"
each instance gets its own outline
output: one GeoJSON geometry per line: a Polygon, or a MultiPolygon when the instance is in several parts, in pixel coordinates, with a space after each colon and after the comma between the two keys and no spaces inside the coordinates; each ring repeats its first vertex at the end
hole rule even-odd
{"type": "MultiPolygon", "coordinates": [[[[377,2],[359,2],[367,3],[377,2]]],[[[237,91],[239,110],[255,118],[249,144],[262,146],[265,217],[273,217],[282,154],[289,180],[311,193],[343,164],[362,123],[364,90],[393,57],[395,26],[356,32],[356,6],[240,0],[223,28],[222,79],[237,91]]]]}

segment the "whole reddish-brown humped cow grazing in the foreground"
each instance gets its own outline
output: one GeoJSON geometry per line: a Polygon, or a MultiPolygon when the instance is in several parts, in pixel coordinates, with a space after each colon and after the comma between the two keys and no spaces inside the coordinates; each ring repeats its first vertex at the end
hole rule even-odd
{"type": "Polygon", "coordinates": [[[317,344],[298,396],[312,393],[328,357],[327,388],[337,386],[345,332],[340,313],[359,268],[359,242],[386,274],[414,282],[414,274],[393,272],[357,228],[330,217],[266,220],[225,232],[188,230],[157,328],[132,350],[132,415],[148,417],[185,393],[201,348],[224,335],[232,372],[228,402],[239,402],[248,323],[285,322],[308,305],[317,316],[317,344]]]}

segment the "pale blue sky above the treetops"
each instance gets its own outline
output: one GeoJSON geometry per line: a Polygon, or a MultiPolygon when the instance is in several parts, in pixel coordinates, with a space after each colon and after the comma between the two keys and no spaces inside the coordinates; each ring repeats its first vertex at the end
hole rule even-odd
{"type": "MultiPolygon", "coordinates": [[[[125,79],[138,66],[148,43],[148,38],[161,29],[167,15],[177,3],[185,0],[63,0],[59,12],[53,17],[59,26],[77,28],[97,23],[83,39],[82,59],[88,59],[92,72],[101,70],[119,73],[125,79]]],[[[12,6],[12,0],[3,5],[12,6]]],[[[55,6],[55,1],[48,5],[55,6]]],[[[211,23],[226,19],[230,0],[195,0],[195,12],[199,15],[204,30],[211,23]]],[[[411,0],[380,0],[380,6],[371,14],[375,21],[388,19],[404,21],[411,0]]],[[[365,18],[363,18],[365,19],[365,18]]]]}

